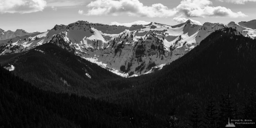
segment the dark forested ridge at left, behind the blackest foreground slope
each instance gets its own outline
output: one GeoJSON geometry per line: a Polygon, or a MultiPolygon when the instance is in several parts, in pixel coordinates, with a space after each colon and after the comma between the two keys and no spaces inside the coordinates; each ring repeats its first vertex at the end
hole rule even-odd
{"type": "Polygon", "coordinates": [[[101,86],[101,81],[121,78],[52,43],[40,45],[28,52],[2,55],[0,61],[3,66],[13,64],[15,75],[40,89],[54,92],[97,97],[99,93],[109,94],[114,90],[112,88],[116,88],[101,86]]]}

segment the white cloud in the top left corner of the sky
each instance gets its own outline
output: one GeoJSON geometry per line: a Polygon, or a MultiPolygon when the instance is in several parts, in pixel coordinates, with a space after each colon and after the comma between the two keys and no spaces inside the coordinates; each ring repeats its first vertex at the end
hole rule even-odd
{"type": "Polygon", "coordinates": [[[45,0],[0,0],[1,13],[31,13],[43,11],[45,0]]]}

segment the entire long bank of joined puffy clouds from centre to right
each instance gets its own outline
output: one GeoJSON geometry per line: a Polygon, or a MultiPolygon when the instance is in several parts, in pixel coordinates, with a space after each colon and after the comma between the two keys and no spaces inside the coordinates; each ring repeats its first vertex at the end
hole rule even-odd
{"type": "Polygon", "coordinates": [[[212,2],[210,0],[182,0],[177,7],[169,9],[163,4],[145,6],[139,0],[96,0],[87,5],[90,9],[85,15],[127,15],[149,18],[171,17],[176,14],[184,14],[186,17],[236,18],[246,16],[242,12],[233,12],[226,7],[211,5],[212,2]]]}

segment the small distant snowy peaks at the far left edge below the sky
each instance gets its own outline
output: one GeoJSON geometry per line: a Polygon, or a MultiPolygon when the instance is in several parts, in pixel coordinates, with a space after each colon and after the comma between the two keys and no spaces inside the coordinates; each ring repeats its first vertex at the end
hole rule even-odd
{"type": "Polygon", "coordinates": [[[28,33],[27,31],[22,29],[17,29],[15,32],[13,32],[11,30],[4,31],[3,29],[0,28],[0,40],[20,37],[20,36],[25,36],[30,34],[36,34],[36,33],[39,33],[39,32],[28,33]]]}

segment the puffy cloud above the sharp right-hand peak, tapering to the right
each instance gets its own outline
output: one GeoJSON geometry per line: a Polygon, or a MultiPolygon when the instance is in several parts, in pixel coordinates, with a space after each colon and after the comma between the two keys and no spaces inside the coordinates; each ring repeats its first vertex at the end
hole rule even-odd
{"type": "Polygon", "coordinates": [[[183,0],[176,7],[177,11],[187,17],[245,17],[242,12],[233,12],[222,6],[210,6],[209,0],[183,0]]]}

